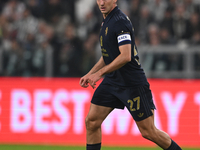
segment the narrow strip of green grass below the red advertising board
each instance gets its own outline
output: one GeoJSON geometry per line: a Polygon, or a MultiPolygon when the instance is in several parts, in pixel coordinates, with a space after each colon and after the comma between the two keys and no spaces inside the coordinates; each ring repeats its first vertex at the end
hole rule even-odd
{"type": "MultiPolygon", "coordinates": [[[[0,145],[1,150],[85,150],[85,147],[74,146],[33,146],[33,145],[0,145]]],[[[141,147],[102,147],[102,150],[162,150],[161,148],[141,147]]],[[[200,150],[200,148],[183,148],[183,150],[200,150]]]]}

